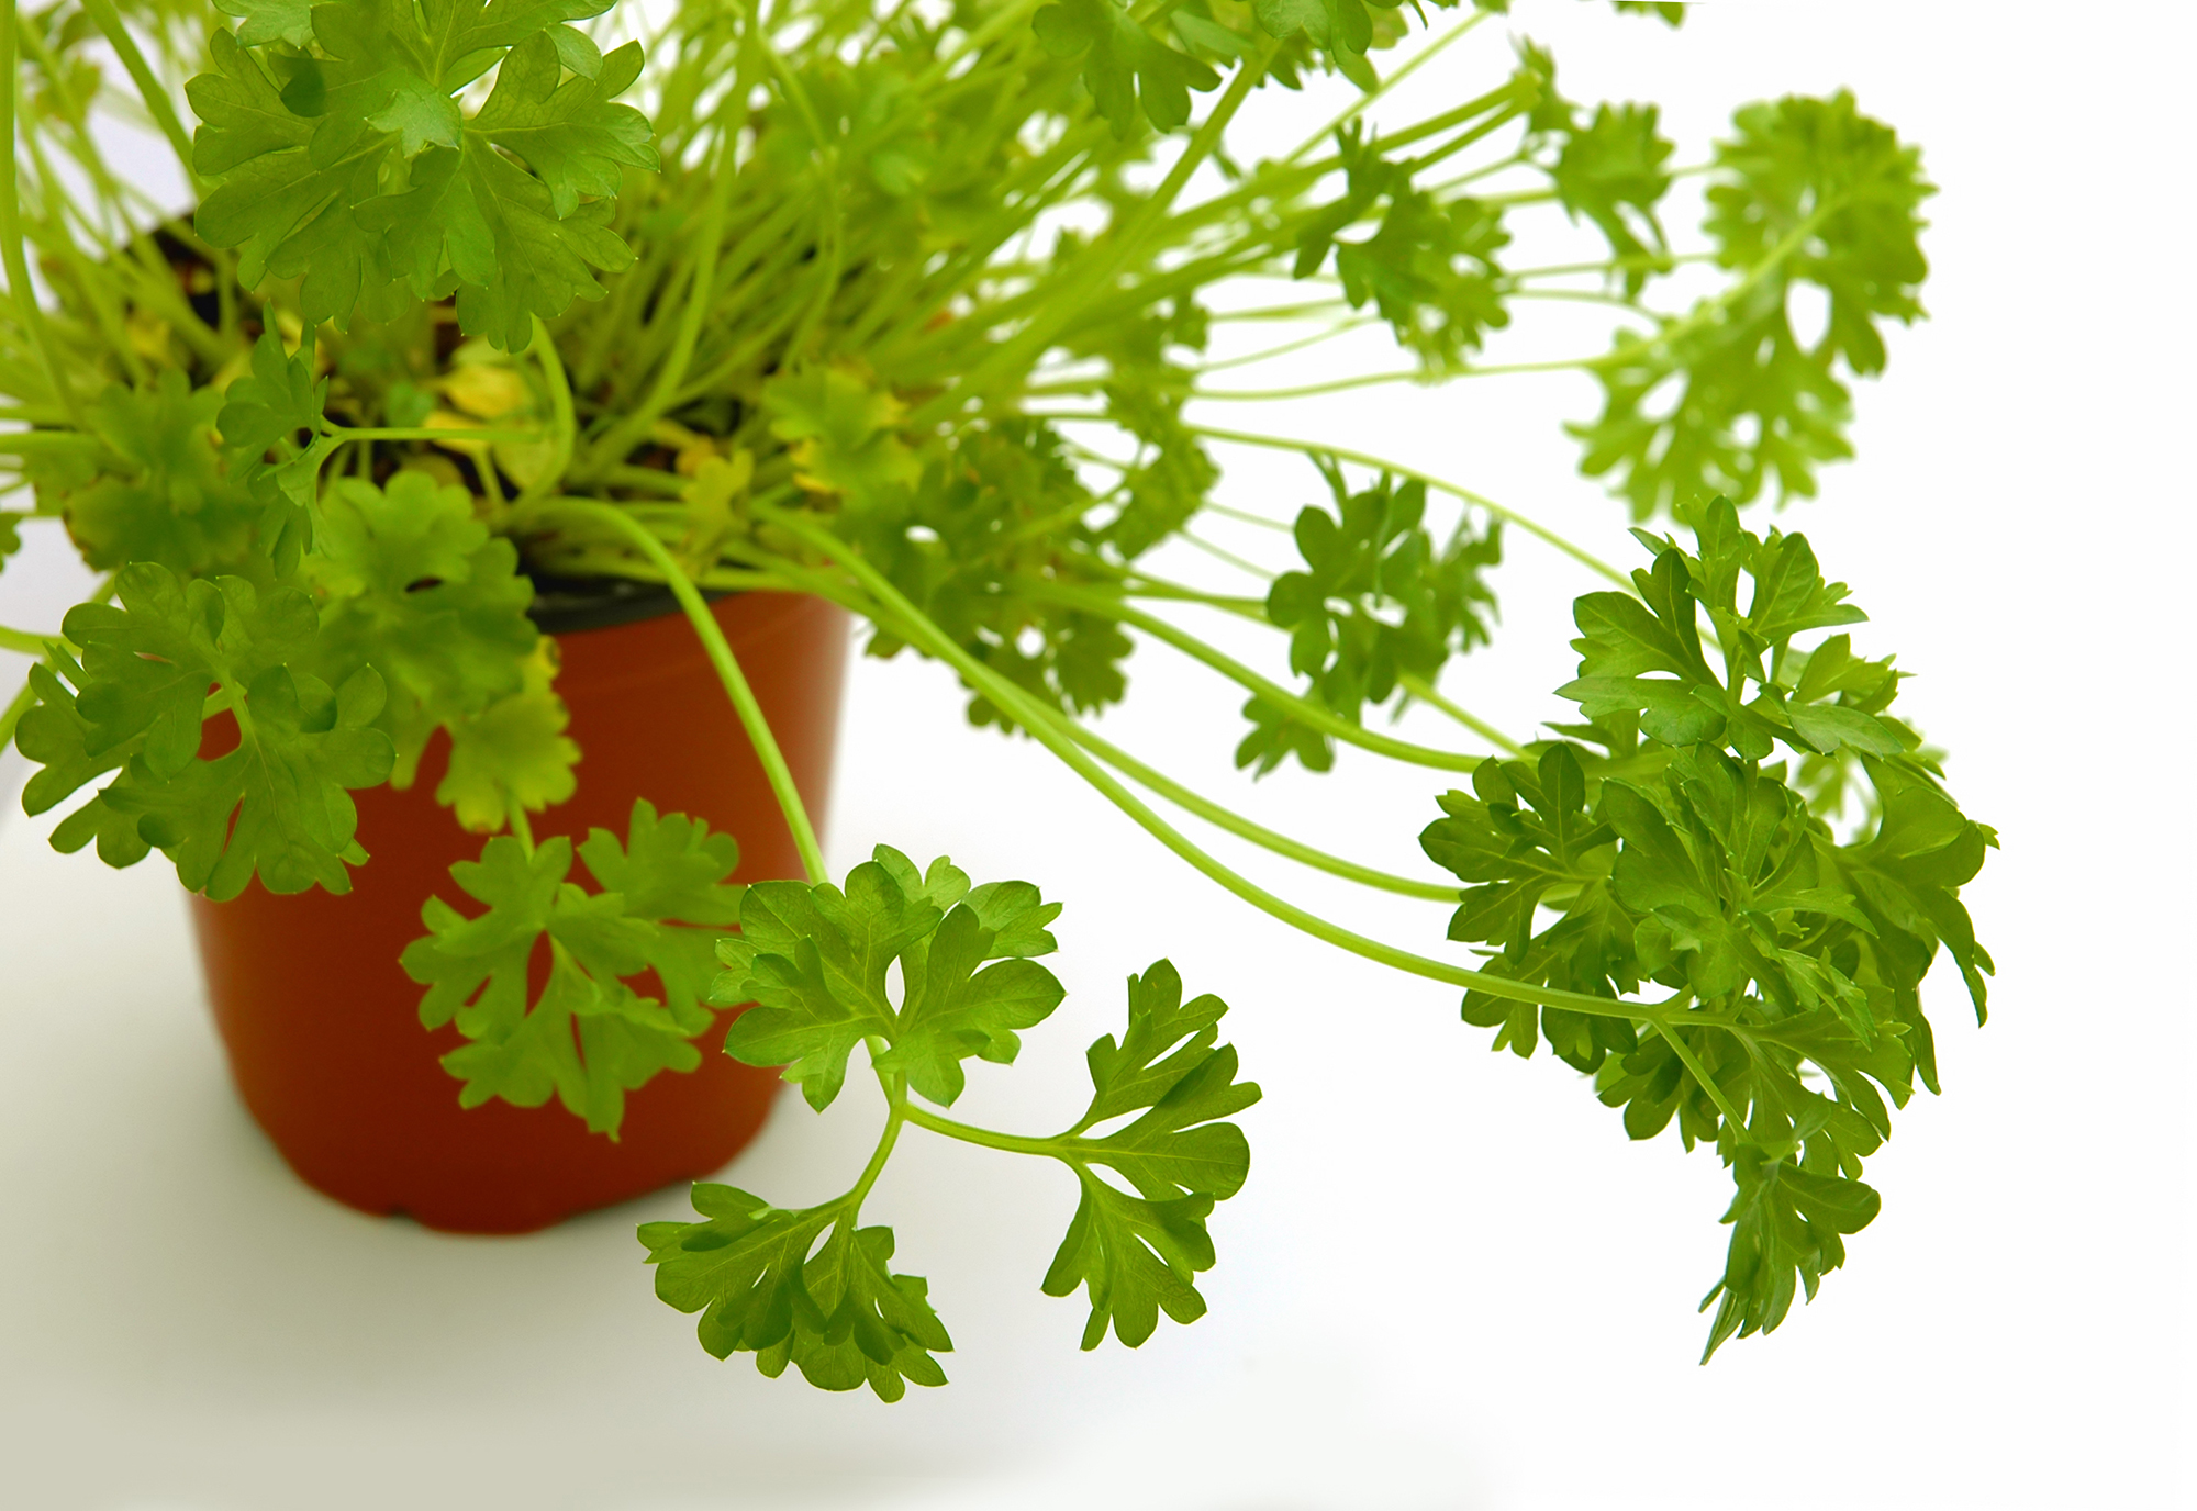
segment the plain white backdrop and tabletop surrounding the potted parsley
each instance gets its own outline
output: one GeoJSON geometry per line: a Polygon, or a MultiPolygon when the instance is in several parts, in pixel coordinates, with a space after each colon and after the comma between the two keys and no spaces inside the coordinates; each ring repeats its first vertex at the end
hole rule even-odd
{"type": "MultiPolygon", "coordinates": [[[[1490,1056],[1452,993],[1265,922],[1033,747],[967,731],[936,668],[866,661],[835,868],[888,839],[1068,903],[1052,964],[1070,1004],[1022,1067],[978,1070],[973,1120],[1063,1120],[1083,1043],[1118,1023],[1120,977],[1160,953],[1235,1004],[1268,1100],[1246,1116],[1252,1182],[1215,1219],[1206,1320],[1079,1355],[1081,1302],[1037,1291],[1070,1182],[923,1138],[870,1215],[929,1276],[958,1351],[949,1388],[892,1408],[703,1355],[633,1243],[637,1221],[681,1210],[672,1193],[518,1241],[358,1217],[299,1186],[235,1105],[171,876],[53,857],[15,813],[0,821],[0,1500],[2190,1504],[2175,1480],[2193,1410],[2190,26],[2166,4],[1705,4],[1676,35],[1602,7],[1520,11],[1571,97],[1676,101],[1681,158],[1742,99],[1843,83],[1925,143],[1944,187],[1936,318],[1861,389],[1861,461],[1786,523],[1856,584],[1874,615],[1856,639],[1918,674],[1903,709],[2004,835],[1971,889],[1999,982],[1977,1030],[1951,973],[1933,977],[1947,1094],[1872,1160],[1883,1217],[1813,1307],[1698,1368],[1692,1302],[1725,1243],[1711,1155],[1628,1144],[1562,1065],[1490,1056]]],[[[1437,70],[1419,99],[1481,88],[1459,75],[1437,70]]],[[[1213,417],[1386,450],[1628,560],[1619,507],[1571,474],[1555,428],[1591,404],[1584,380],[1551,378],[1213,417]]],[[[1287,516],[1312,496],[1303,463],[1228,461],[1241,505],[1287,516]]],[[[0,622],[44,622],[66,582],[33,549],[0,578],[0,622]]],[[[1523,729],[1569,712],[1547,690],[1591,582],[1518,540],[1498,584],[1498,646],[1448,690],[1523,729]]],[[[1331,848],[1415,863],[1439,777],[1345,758],[1250,791],[1226,762],[1239,698],[1151,646],[1134,670],[1109,736],[1331,848]]],[[[1261,874],[1443,949],[1435,905],[1261,874]]],[[[874,1116],[857,1094],[822,1120],[789,1100],[729,1177],[822,1197],[874,1116]]]]}

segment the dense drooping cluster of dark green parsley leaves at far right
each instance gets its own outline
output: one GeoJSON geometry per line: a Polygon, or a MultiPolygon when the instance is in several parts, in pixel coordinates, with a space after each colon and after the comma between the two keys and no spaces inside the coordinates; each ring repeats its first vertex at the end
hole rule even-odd
{"type": "Polygon", "coordinates": [[[1960,887],[1997,837],[1885,714],[1889,659],[1859,661],[1843,633],[1795,648],[1861,619],[1802,536],[1742,531],[1727,501],[1694,514],[1694,536],[1687,553],[1643,534],[1639,597],[1575,606],[1582,676],[1564,696],[1608,755],[1558,740],[1531,764],[1490,760],[1421,848],[1468,883],[1450,938],[1481,944],[1485,973],[1613,999],[1591,1015],[1468,993],[1465,1019],[1518,1054],[1547,1037],[1632,1138],[1676,1122],[1733,1171],[1714,1353],[1815,1296],[1874,1219],[1861,1164],[1916,1081],[1938,1089],[1920,986],[1940,949],[1984,1017],[1993,964],[1960,887]],[[1865,832],[1841,843],[1802,777],[1764,764],[1773,742],[1802,775],[1854,766],[1865,832]],[[1679,997],[1615,1006],[1648,982],[1679,997]]]}

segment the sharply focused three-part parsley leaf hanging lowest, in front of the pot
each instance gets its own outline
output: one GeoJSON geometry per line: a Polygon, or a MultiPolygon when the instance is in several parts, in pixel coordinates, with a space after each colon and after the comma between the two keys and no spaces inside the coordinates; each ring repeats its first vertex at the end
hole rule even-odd
{"type": "Polygon", "coordinates": [[[885,1401],[910,1381],[945,1384],[934,1355],[951,1340],[927,1283],[890,1269],[890,1228],[859,1225],[903,1122],[1074,1173],[1081,1201],[1044,1291],[1085,1291],[1085,1348],[1107,1331],[1134,1348],[1160,1313],[1204,1316],[1195,1276],[1213,1267],[1206,1219],[1250,1171],[1244,1133],[1224,1118],[1259,1100],[1257,1085],[1237,1081],[1235,1050],[1217,1043],[1226,1012],[1217,997],[1182,1001],[1164,960],[1129,977],[1127,1030],[1092,1043],[1090,1107],[1055,1138],[973,1129],[907,1100],[953,1105],[964,1061],[1013,1063],[1019,1034],[1059,1006],[1059,980],[1035,962],[1055,949],[1057,914],[1059,903],[1044,903],[1030,883],[971,887],[949,861],[916,870],[888,846],[844,887],[747,889],[740,933],[718,944],[727,971],[714,997],[756,1006],[734,1019],[725,1052],[784,1065],[784,1078],[824,1109],[855,1048],[868,1045],[890,1113],[870,1168],[833,1201],[784,1210],[699,1184],[701,1221],[642,1228],[657,1296],[701,1313],[703,1348],[721,1359],[754,1353],[773,1377],[793,1364],[826,1390],[868,1384],[885,1401]],[[899,1001],[888,990],[894,966],[899,1001]]]}

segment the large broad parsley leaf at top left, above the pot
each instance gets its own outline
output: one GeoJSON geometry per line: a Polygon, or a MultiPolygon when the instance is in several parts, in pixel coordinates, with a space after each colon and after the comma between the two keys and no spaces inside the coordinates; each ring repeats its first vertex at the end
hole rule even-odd
{"type": "Polygon", "coordinates": [[[600,299],[595,272],[633,261],[609,200],[622,169],[657,167],[648,121],[613,103],[639,46],[565,40],[560,22],[604,9],[336,0],[312,7],[310,46],[286,11],[215,33],[213,72],[189,83],[193,165],[213,182],[200,235],[242,248],[248,286],[303,275],[310,325],[455,292],[468,334],[523,349],[536,316],[600,299]],[[292,48],[248,51],[279,37],[292,48]],[[455,94],[490,68],[468,119],[455,94]]]}

